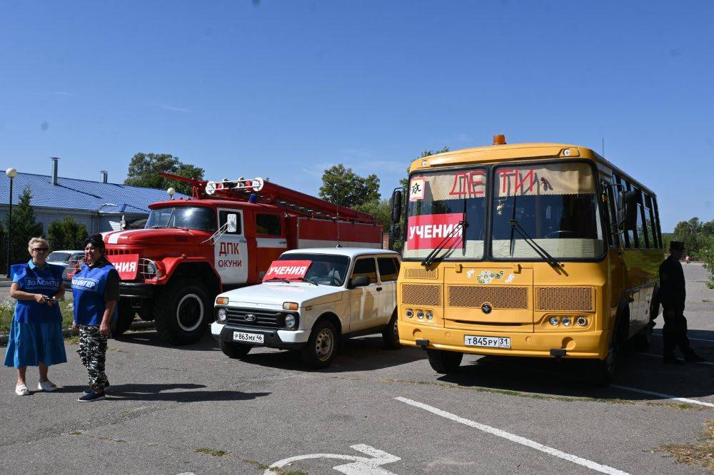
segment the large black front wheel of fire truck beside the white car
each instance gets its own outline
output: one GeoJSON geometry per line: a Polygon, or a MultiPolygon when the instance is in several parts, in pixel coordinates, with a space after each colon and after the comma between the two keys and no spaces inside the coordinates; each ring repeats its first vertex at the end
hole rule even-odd
{"type": "Polygon", "coordinates": [[[180,279],[166,284],[154,302],[154,325],[169,344],[197,342],[208,327],[211,300],[197,279],[180,279]]]}

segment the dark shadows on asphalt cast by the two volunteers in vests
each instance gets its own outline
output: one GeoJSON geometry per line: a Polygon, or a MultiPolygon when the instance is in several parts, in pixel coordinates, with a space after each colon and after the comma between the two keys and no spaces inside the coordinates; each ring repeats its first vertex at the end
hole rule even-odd
{"type": "MultiPolygon", "coordinates": [[[[111,391],[106,393],[106,399],[127,401],[172,401],[172,402],[201,402],[201,401],[246,401],[258,397],[268,396],[269,392],[241,392],[241,391],[181,391],[176,389],[199,389],[203,384],[114,384],[111,391]]],[[[64,386],[57,392],[81,393],[86,386],[64,386]]]]}

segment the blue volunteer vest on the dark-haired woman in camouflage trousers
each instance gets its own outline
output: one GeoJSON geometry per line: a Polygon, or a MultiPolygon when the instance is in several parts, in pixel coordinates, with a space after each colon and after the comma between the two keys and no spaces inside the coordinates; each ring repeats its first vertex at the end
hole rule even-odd
{"type": "MultiPolygon", "coordinates": [[[[106,302],[104,302],[104,286],[109,272],[116,270],[114,266],[106,261],[101,267],[89,268],[84,265],[82,270],[72,277],[72,295],[74,295],[74,322],[77,325],[101,324],[104,317],[106,302]]],[[[114,315],[111,320],[114,322],[118,315],[119,302],[114,306],[114,315]]]]}

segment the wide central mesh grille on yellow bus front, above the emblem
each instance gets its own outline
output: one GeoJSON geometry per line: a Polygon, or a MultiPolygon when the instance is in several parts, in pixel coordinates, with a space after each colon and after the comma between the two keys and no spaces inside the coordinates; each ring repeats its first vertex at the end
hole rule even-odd
{"type": "Polygon", "coordinates": [[[496,287],[493,285],[449,285],[449,307],[479,308],[488,303],[494,309],[528,310],[528,287],[496,287]]]}

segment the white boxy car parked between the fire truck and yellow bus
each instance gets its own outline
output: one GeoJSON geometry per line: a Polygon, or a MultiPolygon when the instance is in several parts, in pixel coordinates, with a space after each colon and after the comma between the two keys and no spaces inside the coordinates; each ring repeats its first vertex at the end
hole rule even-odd
{"type": "Polygon", "coordinates": [[[275,277],[216,297],[213,337],[228,357],[254,346],[301,350],[311,367],[328,367],[341,337],[381,332],[400,347],[396,280],[400,257],[383,249],[329,247],[283,252],[279,262],[310,261],[303,277],[275,277]]]}

